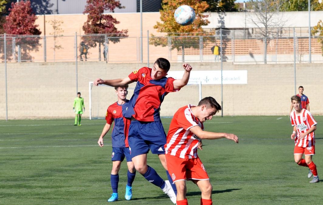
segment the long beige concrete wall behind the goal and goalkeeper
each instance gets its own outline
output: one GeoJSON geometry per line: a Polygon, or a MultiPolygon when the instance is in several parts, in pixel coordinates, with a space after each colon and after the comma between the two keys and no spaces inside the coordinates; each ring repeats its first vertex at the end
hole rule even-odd
{"type": "MultiPolygon", "coordinates": [[[[194,70],[220,70],[220,63],[191,63],[194,70]]],[[[89,81],[100,77],[126,77],[147,64],[78,63],[78,91],[85,99],[89,116],[89,81]]],[[[5,119],[5,71],[0,67],[0,119],[5,119]]],[[[181,63],[172,63],[171,70],[181,70],[181,63]]],[[[224,63],[224,70],[247,70],[248,83],[224,85],[224,115],[287,115],[290,97],[294,94],[293,64],[233,65],[224,63]]],[[[297,64],[297,87],[304,86],[310,110],[322,115],[323,100],[320,64],[297,64]]],[[[76,96],[76,68],[74,63],[8,63],[9,119],[72,118],[76,96]]],[[[130,85],[129,98],[135,84],[130,85]]],[[[93,112],[104,116],[109,104],[116,101],[113,88],[94,87],[93,112]]],[[[221,102],[221,85],[203,85],[202,97],[213,96],[221,102]]],[[[161,107],[162,116],[172,116],[181,106],[198,102],[198,87],[191,85],[178,93],[166,96],[161,107]]]]}

